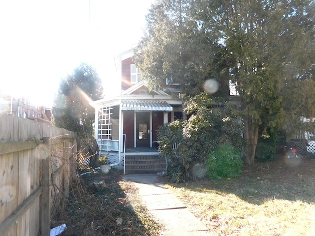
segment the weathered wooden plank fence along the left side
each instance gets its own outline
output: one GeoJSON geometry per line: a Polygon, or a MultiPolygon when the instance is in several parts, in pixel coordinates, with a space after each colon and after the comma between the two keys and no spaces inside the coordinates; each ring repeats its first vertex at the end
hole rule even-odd
{"type": "Polygon", "coordinates": [[[75,177],[76,133],[0,114],[0,236],[49,236],[75,177]]]}

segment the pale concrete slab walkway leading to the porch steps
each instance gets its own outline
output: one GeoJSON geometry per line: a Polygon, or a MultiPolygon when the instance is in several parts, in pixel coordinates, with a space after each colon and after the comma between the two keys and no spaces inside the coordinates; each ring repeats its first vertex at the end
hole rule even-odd
{"type": "Polygon", "coordinates": [[[126,175],[134,182],[148,210],[165,226],[162,236],[212,236],[186,206],[159,181],[157,174],[126,175]]]}

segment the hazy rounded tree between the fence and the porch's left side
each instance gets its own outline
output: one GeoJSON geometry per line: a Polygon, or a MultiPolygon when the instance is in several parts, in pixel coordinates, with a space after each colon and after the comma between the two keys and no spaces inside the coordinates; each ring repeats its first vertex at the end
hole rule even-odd
{"type": "Polygon", "coordinates": [[[55,125],[77,132],[80,138],[91,138],[95,110],[89,103],[101,99],[102,93],[102,82],[95,69],[81,63],[60,83],[52,108],[55,125]]]}

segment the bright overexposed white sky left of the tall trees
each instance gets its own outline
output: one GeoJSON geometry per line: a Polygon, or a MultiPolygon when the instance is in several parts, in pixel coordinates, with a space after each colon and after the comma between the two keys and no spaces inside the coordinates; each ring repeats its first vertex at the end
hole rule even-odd
{"type": "Polygon", "coordinates": [[[0,90],[51,106],[62,78],[95,67],[109,95],[114,55],[136,44],[154,0],[0,1],[0,90]]]}

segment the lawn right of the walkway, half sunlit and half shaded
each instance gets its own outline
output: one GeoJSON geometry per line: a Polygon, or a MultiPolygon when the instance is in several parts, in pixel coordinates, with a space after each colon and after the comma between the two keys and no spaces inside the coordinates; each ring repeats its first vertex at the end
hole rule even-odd
{"type": "MultiPolygon", "coordinates": [[[[296,160],[294,160],[296,161],[296,160]]],[[[169,183],[216,235],[311,236],[315,232],[315,161],[255,163],[235,179],[169,183]]]]}

